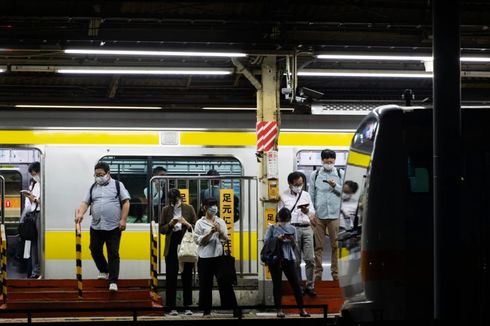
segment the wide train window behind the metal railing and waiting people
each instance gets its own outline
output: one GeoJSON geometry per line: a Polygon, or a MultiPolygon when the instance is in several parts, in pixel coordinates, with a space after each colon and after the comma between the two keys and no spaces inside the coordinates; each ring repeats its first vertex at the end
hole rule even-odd
{"type": "MultiPolygon", "coordinates": [[[[176,157],[176,156],[105,156],[101,162],[109,164],[113,178],[124,183],[131,194],[131,207],[128,223],[148,223],[148,182],[156,167],[166,170],[165,175],[171,176],[202,176],[209,170],[216,170],[222,176],[241,176],[242,166],[236,158],[232,157],[176,157]],[[145,191],[146,190],[146,191],[145,191]],[[145,194],[146,192],[146,194],[145,194]]],[[[157,199],[155,216],[159,215],[161,207],[165,204],[165,191],[169,188],[189,189],[189,202],[198,211],[200,203],[198,192],[208,186],[207,182],[169,179],[169,184],[163,184],[163,195],[157,199]]],[[[240,197],[239,180],[223,180],[221,188],[233,188],[240,197]]]]}

